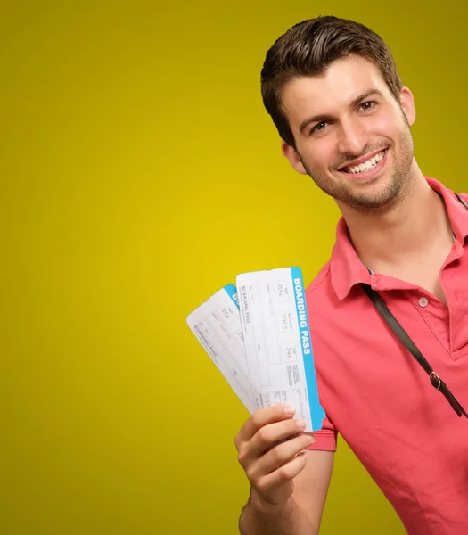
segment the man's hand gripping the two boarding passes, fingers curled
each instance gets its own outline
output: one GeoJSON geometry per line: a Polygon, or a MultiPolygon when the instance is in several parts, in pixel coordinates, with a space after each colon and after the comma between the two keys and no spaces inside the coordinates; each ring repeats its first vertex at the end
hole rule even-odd
{"type": "Polygon", "coordinates": [[[283,506],[291,497],[293,479],[306,465],[303,450],[315,441],[313,435],[303,433],[303,420],[292,419],[294,413],[288,405],[261,409],[242,425],[234,440],[252,495],[257,493],[269,505],[283,506]]]}

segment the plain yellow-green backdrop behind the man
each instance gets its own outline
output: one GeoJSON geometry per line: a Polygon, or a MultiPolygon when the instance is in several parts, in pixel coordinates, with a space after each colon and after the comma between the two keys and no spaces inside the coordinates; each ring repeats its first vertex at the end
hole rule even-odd
{"type": "MultiPolygon", "coordinates": [[[[375,29],[423,171],[467,191],[462,5],[2,1],[2,534],[237,532],[247,415],[185,317],[243,271],[310,281],[339,216],[281,156],[267,48],[318,14],[375,29]]],[[[404,530],[341,441],[322,533],[344,532],[404,530]]]]}

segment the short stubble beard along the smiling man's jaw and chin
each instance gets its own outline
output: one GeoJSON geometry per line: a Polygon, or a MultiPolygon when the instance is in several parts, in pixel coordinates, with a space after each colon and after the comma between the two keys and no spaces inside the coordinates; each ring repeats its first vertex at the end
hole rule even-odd
{"type": "MultiPolygon", "coordinates": [[[[406,122],[406,117],[405,117],[406,122]]],[[[414,158],[413,137],[409,125],[406,122],[405,127],[398,133],[398,154],[395,152],[394,144],[390,144],[389,149],[393,155],[393,172],[390,179],[382,187],[372,187],[378,185],[381,177],[375,177],[374,180],[366,183],[366,190],[359,192],[351,184],[345,181],[330,181],[330,178],[324,173],[316,171],[303,161],[299,152],[300,161],[308,172],[308,176],[316,185],[326,194],[333,197],[338,202],[348,205],[350,208],[365,213],[381,213],[391,210],[396,204],[406,198],[411,189],[411,169],[414,158]],[[370,187],[369,187],[370,186],[370,187]]],[[[378,150],[379,146],[365,147],[363,153],[378,150]]]]}

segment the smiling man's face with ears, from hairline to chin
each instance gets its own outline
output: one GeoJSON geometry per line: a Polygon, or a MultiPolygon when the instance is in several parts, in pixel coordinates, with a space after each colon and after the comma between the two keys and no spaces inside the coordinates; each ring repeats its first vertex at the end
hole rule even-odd
{"type": "Polygon", "coordinates": [[[337,60],[321,76],[291,80],[282,96],[296,140],[296,150],[283,143],[284,155],[341,207],[384,209],[407,191],[413,96],[404,88],[398,103],[373,62],[337,60]]]}

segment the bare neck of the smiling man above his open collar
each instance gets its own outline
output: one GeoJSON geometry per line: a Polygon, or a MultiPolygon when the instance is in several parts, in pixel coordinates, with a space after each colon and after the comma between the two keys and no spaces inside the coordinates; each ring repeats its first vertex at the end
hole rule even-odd
{"type": "Polygon", "coordinates": [[[357,256],[375,270],[397,268],[452,240],[443,199],[427,183],[414,162],[405,195],[384,213],[363,213],[340,206],[357,256]]]}

